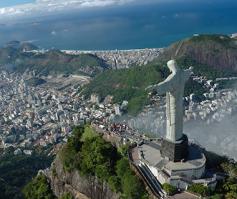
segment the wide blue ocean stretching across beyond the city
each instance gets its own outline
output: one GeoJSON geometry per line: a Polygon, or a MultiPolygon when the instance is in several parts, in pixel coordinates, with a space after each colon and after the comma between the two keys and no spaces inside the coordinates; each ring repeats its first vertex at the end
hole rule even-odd
{"type": "Polygon", "coordinates": [[[158,48],[193,34],[237,32],[236,0],[159,2],[78,10],[0,24],[0,45],[32,41],[41,48],[158,48]]]}

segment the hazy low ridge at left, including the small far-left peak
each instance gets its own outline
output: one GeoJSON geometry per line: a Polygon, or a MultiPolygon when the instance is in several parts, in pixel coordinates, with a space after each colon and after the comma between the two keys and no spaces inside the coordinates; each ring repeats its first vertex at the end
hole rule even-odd
{"type": "Polygon", "coordinates": [[[0,49],[0,68],[20,73],[34,71],[36,75],[83,74],[94,76],[108,66],[104,60],[91,54],[68,55],[59,50],[43,54],[30,53],[37,49],[31,43],[12,41],[0,49]]]}

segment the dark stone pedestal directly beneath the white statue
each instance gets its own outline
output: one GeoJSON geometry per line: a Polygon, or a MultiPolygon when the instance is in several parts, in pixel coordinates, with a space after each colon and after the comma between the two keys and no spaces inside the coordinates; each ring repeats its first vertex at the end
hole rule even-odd
{"type": "Polygon", "coordinates": [[[188,137],[183,135],[176,142],[163,139],[161,143],[161,155],[173,162],[186,160],[188,157],[188,137]]]}

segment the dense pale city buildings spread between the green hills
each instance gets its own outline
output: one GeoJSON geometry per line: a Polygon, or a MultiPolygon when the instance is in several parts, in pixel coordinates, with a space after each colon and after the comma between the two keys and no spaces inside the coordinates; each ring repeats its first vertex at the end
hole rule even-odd
{"type": "MultiPolygon", "coordinates": [[[[126,67],[134,63],[140,65],[157,57],[159,52],[160,49],[144,49],[95,51],[94,53],[113,67],[120,68],[112,62],[126,67]]],[[[85,52],[67,51],[67,53],[85,52]]],[[[29,74],[31,77],[34,76],[32,72],[29,74]]],[[[153,129],[152,132],[164,129],[165,103],[164,98],[160,96],[151,97],[151,101],[158,105],[158,111],[154,111],[154,106],[149,105],[137,117],[128,119],[127,124],[117,124],[115,128],[113,126],[115,118],[119,118],[124,111],[126,112],[127,101],[113,104],[113,96],[101,100],[97,94],[92,94],[90,99],[85,99],[80,94],[82,82],[66,80],[75,76],[65,77],[66,79],[63,80],[55,78],[54,83],[59,86],[55,86],[52,81],[47,81],[41,86],[30,86],[27,83],[28,78],[27,75],[16,73],[4,71],[0,73],[0,148],[13,147],[15,154],[30,155],[35,146],[48,147],[65,142],[72,127],[84,123],[92,122],[101,129],[109,131],[115,131],[114,129],[116,132],[127,131],[128,133],[125,134],[127,137],[134,135],[134,132],[137,133],[131,128],[142,129],[146,133],[148,133],[146,129],[153,129]],[[65,83],[67,81],[68,84],[65,83]],[[152,127],[148,128],[150,121],[153,121],[152,127]]],[[[83,83],[88,83],[88,79],[81,78],[83,83]]],[[[201,102],[195,100],[194,94],[185,97],[184,120],[186,122],[200,120],[212,124],[236,112],[237,91],[235,89],[218,89],[220,79],[212,81],[205,77],[192,76],[192,78],[209,92],[203,94],[205,100],[201,102]]],[[[228,81],[228,79],[221,80],[228,81]]],[[[135,139],[137,137],[135,136],[135,139]]]]}

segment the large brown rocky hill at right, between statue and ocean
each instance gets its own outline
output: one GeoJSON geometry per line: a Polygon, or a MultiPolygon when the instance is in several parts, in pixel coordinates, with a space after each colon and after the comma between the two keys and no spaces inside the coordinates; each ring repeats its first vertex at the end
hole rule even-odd
{"type": "Polygon", "coordinates": [[[163,57],[189,57],[200,64],[236,72],[237,40],[225,35],[199,35],[171,45],[163,57]]]}

